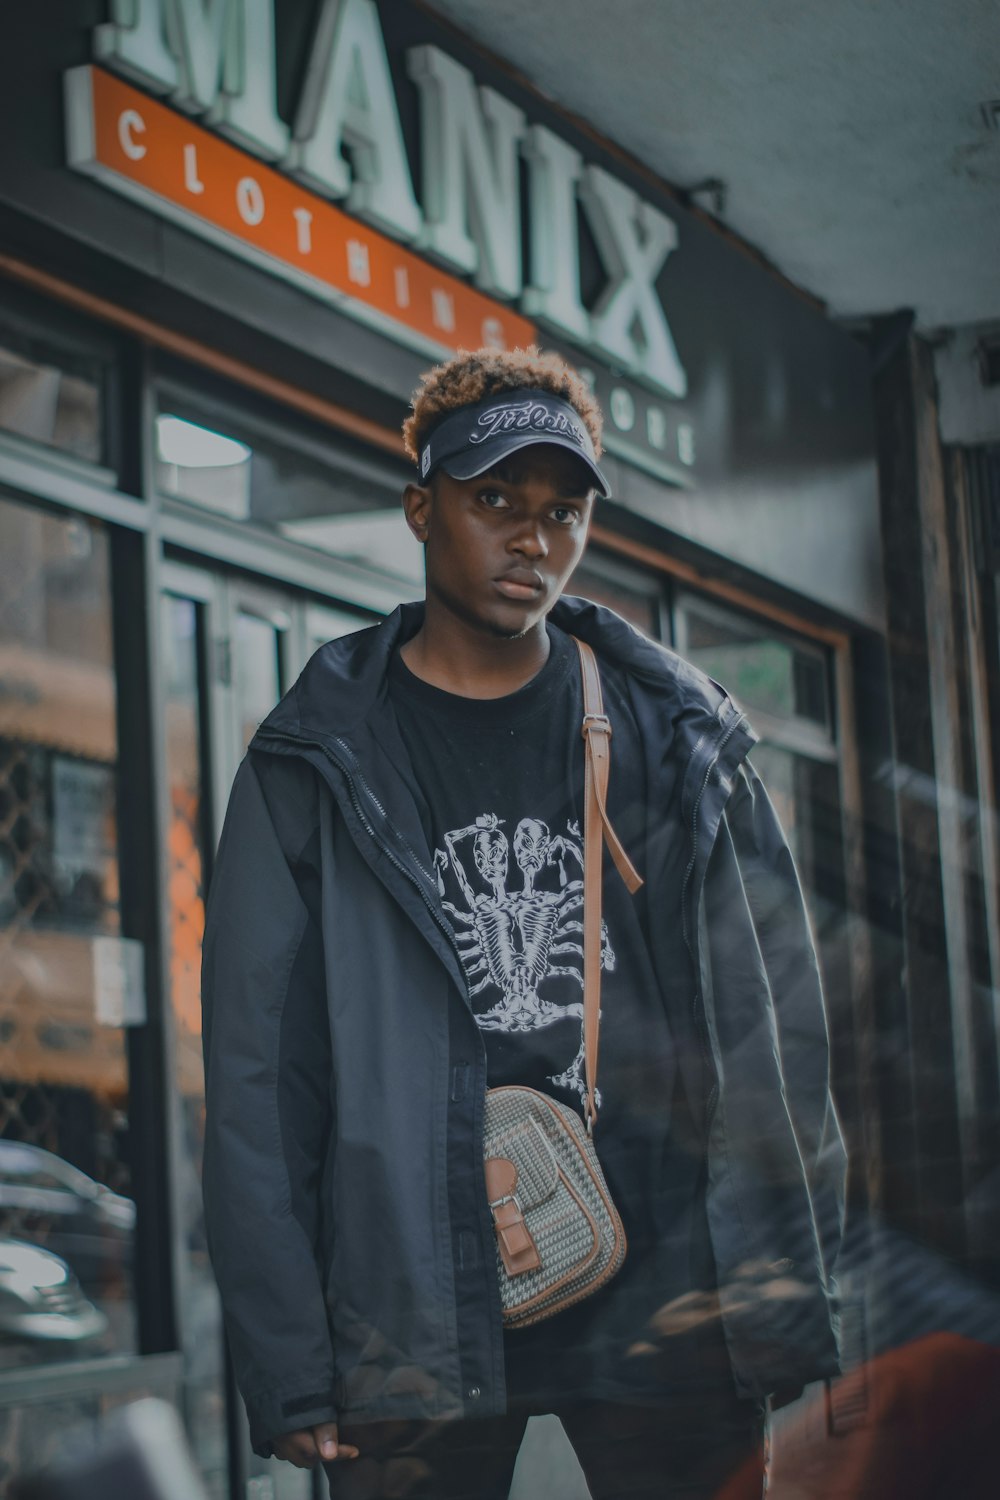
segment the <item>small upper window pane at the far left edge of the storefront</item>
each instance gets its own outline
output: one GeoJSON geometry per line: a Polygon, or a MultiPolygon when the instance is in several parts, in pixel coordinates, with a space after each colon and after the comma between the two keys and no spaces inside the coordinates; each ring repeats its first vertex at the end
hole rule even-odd
{"type": "Polygon", "coordinates": [[[0,428],[99,464],[100,382],[42,352],[12,348],[0,333],[0,428]]]}

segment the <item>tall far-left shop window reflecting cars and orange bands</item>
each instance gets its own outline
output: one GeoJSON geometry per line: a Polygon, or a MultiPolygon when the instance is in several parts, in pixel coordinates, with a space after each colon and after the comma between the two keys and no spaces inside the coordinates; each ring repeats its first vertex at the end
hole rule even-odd
{"type": "Polygon", "coordinates": [[[135,1348],[115,772],[106,534],[0,498],[3,1372],[135,1348]]]}

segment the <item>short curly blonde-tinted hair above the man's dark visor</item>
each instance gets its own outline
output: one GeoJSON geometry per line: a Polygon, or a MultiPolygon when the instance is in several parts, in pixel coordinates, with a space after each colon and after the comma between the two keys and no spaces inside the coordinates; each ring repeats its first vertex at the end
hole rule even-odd
{"type": "Polygon", "coordinates": [[[601,456],[601,408],[580,375],[558,354],[543,354],[537,344],[526,350],[459,350],[421,376],[403,422],[403,447],[417,464],[420,450],[442,417],[474,406],[487,396],[529,387],[568,400],[583,422],[601,456]]]}

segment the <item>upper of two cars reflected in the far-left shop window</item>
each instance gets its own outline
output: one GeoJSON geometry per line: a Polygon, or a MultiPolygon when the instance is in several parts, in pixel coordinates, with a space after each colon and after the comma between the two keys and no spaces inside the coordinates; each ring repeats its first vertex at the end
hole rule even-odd
{"type": "Polygon", "coordinates": [[[130,1272],[135,1203],[25,1142],[0,1140],[0,1233],[66,1260],[87,1290],[130,1272]]]}

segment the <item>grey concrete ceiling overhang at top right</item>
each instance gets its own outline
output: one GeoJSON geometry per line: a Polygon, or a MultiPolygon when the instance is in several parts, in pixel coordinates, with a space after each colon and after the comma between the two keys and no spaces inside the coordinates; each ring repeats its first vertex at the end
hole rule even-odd
{"type": "Polygon", "coordinates": [[[673,186],[721,178],[720,218],[835,316],[1000,318],[999,0],[433,9],[673,186]]]}

